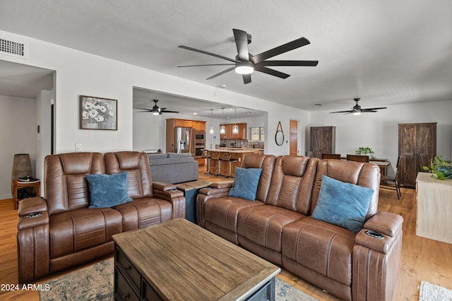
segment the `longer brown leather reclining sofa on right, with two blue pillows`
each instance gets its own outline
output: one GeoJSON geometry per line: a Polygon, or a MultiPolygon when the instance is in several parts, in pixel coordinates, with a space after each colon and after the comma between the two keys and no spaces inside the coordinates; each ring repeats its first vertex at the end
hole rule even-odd
{"type": "Polygon", "coordinates": [[[343,300],[391,300],[400,270],[403,218],[377,212],[379,167],[303,156],[250,154],[261,168],[256,199],[227,196],[232,184],[201,189],[198,224],[343,300]],[[322,175],[374,190],[364,228],[355,233],[311,217],[322,175]],[[383,238],[366,234],[372,230],[383,238]]]}

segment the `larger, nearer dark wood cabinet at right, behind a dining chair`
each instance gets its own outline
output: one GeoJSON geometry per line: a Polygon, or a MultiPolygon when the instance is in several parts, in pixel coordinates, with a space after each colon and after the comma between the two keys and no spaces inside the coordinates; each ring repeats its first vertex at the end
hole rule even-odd
{"type": "Polygon", "coordinates": [[[436,122],[398,125],[398,154],[402,156],[399,182],[416,187],[417,172],[436,155],[436,122]]]}

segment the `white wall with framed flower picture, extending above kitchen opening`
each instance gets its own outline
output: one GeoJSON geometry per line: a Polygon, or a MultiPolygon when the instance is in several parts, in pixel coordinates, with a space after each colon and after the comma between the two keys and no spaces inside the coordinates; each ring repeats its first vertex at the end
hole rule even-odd
{"type": "MultiPolygon", "coordinates": [[[[0,54],[0,59],[56,71],[56,153],[74,151],[75,143],[82,143],[82,151],[99,151],[102,153],[132,150],[134,148],[153,148],[155,139],[143,144],[137,142],[135,146],[133,145],[133,118],[141,118],[133,114],[134,86],[189,98],[227,103],[232,106],[266,110],[268,112],[269,129],[276,129],[278,120],[288,120],[302,115],[309,116],[307,112],[281,106],[274,102],[232,93],[228,90],[187,81],[165,73],[150,71],[41,40],[12,33],[6,34],[11,39],[14,37],[25,39],[28,42],[30,52],[28,59],[18,59],[4,54],[0,54]],[[79,129],[80,95],[118,100],[118,130],[79,129]]],[[[307,118],[303,117],[302,119],[307,118]]],[[[148,134],[159,136],[159,141],[162,141],[161,128],[157,129],[153,123],[147,124],[147,126],[148,134]]],[[[136,135],[144,136],[147,134],[139,132],[136,135]]],[[[287,150],[282,147],[277,148],[272,141],[274,139],[270,140],[270,143],[266,143],[268,153],[288,153],[288,146],[287,150]]]]}

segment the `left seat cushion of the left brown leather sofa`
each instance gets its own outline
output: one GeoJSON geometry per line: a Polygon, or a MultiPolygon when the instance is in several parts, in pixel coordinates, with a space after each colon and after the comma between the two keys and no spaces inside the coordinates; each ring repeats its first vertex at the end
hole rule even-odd
{"type": "Polygon", "coordinates": [[[52,259],[105,244],[122,232],[121,213],[112,208],[81,208],[49,220],[52,259]]]}

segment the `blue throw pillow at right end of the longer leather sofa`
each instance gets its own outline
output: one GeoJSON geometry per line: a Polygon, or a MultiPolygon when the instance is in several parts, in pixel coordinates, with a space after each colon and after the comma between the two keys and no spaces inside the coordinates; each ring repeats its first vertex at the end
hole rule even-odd
{"type": "Polygon", "coordinates": [[[373,189],[340,182],[323,175],[312,218],[357,233],[364,225],[373,194],[373,189]]]}

